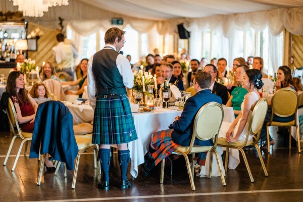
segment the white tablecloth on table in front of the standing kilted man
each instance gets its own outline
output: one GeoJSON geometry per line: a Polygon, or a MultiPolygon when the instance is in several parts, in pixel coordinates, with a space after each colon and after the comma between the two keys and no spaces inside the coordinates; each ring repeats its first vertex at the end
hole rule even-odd
{"type": "MultiPolygon", "coordinates": [[[[93,110],[88,105],[71,105],[65,102],[73,115],[73,124],[92,123],[93,110]]],[[[224,107],[224,121],[232,122],[234,114],[231,107],[224,107]]],[[[138,139],[128,143],[131,157],[130,173],[133,177],[138,176],[138,166],[144,163],[144,155],[147,153],[151,134],[168,129],[176,116],[180,116],[182,111],[161,109],[155,112],[133,113],[134,124],[138,139]]]]}

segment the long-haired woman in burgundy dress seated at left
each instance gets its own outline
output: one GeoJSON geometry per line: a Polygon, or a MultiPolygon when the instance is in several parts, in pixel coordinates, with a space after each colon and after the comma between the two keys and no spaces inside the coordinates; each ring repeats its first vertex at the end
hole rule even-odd
{"type": "MultiPolygon", "coordinates": [[[[21,130],[32,133],[38,105],[24,89],[24,74],[22,72],[14,71],[9,74],[6,91],[14,102],[21,130]]],[[[48,158],[45,158],[45,166],[48,170],[55,170],[52,161],[49,161],[48,158]]]]}

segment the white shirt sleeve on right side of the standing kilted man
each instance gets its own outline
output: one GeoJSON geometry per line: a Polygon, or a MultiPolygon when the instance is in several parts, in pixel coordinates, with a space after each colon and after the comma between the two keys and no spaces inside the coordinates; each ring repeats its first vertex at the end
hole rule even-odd
{"type": "Polygon", "coordinates": [[[122,81],[125,87],[132,88],[134,86],[134,75],[131,71],[131,66],[127,58],[123,55],[119,55],[116,60],[116,65],[122,76],[122,81]]]}

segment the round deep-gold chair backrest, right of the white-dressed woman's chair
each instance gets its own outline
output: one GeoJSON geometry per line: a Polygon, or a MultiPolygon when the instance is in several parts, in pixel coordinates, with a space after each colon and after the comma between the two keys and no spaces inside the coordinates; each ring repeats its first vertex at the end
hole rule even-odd
{"type": "Polygon", "coordinates": [[[271,102],[272,113],[279,117],[289,117],[296,114],[299,97],[295,90],[291,88],[281,88],[275,92],[271,102]]]}

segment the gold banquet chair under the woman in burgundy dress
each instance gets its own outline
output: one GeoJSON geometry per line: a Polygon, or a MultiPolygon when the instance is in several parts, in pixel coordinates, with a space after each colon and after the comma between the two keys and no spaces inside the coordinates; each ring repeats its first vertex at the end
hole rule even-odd
{"type": "Polygon", "coordinates": [[[14,162],[14,165],[13,165],[13,168],[12,168],[12,171],[14,171],[15,168],[16,168],[16,165],[17,165],[17,162],[18,162],[23,144],[26,142],[25,149],[24,149],[24,156],[26,156],[28,141],[32,139],[33,134],[28,133],[28,132],[23,132],[20,129],[19,123],[18,123],[18,120],[17,120],[17,114],[16,114],[15,106],[14,106],[14,103],[13,103],[11,98],[9,98],[8,108],[7,108],[6,111],[7,111],[7,115],[8,115],[9,122],[10,122],[10,128],[11,128],[11,131],[12,131],[14,137],[11,141],[7,156],[6,156],[5,161],[3,163],[4,166],[7,164],[7,161],[9,159],[9,156],[10,156],[11,150],[13,148],[15,139],[17,137],[20,137],[22,139],[22,142],[20,144],[16,159],[15,159],[15,162],[14,162]]]}

